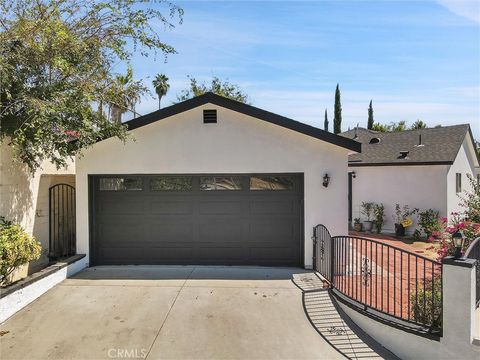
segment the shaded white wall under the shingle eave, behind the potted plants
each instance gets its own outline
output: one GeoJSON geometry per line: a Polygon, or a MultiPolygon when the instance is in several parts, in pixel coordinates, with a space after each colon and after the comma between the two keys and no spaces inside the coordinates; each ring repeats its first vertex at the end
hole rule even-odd
{"type": "MultiPolygon", "coordinates": [[[[395,204],[435,209],[447,215],[447,166],[358,166],[350,167],[356,178],[352,181],[352,216],[360,215],[362,201],[385,205],[385,232],[394,232],[392,216],[395,204]]],[[[416,222],[416,217],[413,217],[416,222]]],[[[410,226],[407,232],[413,231],[410,226]]]]}

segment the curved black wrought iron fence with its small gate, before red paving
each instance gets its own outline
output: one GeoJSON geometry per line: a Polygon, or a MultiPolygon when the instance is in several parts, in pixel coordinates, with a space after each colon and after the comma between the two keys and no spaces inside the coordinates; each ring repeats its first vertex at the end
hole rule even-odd
{"type": "Polygon", "coordinates": [[[335,293],[361,310],[441,331],[441,263],[373,239],[331,237],[323,225],[314,229],[314,268],[335,293]]]}

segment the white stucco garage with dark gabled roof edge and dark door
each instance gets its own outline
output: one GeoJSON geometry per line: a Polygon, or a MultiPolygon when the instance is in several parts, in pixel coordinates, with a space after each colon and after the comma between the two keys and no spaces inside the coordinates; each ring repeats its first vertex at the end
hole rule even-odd
{"type": "Polygon", "coordinates": [[[313,226],[347,232],[354,140],[212,93],[125,124],[76,159],[90,265],[311,267],[313,226]]]}

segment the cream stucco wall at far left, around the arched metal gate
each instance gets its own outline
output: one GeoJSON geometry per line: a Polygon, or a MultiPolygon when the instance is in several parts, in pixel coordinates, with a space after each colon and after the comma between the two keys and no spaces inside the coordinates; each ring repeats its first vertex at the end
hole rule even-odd
{"type": "MultiPolygon", "coordinates": [[[[44,161],[32,174],[25,165],[13,160],[13,149],[8,144],[8,139],[0,144],[0,216],[20,224],[42,244],[40,259],[19,269],[15,278],[24,277],[27,273],[32,273],[48,264],[49,254],[51,255],[49,225],[55,225],[57,235],[58,229],[62,229],[65,235],[67,231],[71,232],[64,221],[49,223],[50,220],[58,218],[58,212],[62,211],[59,206],[64,205],[61,199],[62,194],[56,196],[55,193],[51,198],[49,189],[56,184],[75,186],[74,174],[73,161],[69,161],[64,169],[57,169],[50,162],[44,161]],[[56,215],[52,217],[49,216],[49,200],[56,200],[55,209],[52,208],[56,211],[56,215]]],[[[68,200],[70,204],[74,203],[74,199],[68,200]]],[[[74,208],[72,210],[71,216],[74,217],[74,208]]]]}

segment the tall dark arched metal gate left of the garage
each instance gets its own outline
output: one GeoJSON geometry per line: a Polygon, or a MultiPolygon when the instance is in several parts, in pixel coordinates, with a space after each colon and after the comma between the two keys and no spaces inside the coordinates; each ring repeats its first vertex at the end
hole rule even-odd
{"type": "Polygon", "coordinates": [[[75,255],[75,188],[56,184],[48,190],[50,259],[75,255]]]}

